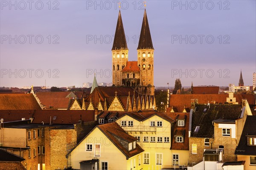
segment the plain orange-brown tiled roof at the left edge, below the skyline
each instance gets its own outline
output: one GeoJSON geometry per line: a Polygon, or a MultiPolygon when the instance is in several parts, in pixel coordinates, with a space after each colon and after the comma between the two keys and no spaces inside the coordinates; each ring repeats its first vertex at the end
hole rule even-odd
{"type": "Polygon", "coordinates": [[[41,109],[32,93],[0,93],[0,110],[41,109]]]}

